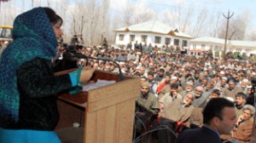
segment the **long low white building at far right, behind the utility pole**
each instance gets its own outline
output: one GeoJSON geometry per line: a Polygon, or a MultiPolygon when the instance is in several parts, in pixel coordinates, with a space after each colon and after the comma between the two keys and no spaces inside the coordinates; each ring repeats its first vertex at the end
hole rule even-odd
{"type": "MultiPolygon", "coordinates": [[[[190,40],[189,54],[198,55],[203,51],[212,50],[212,54],[216,51],[224,51],[224,39],[216,37],[198,37],[190,40]]],[[[256,54],[256,42],[253,41],[235,41],[228,40],[226,52],[239,52],[256,54]]]]}

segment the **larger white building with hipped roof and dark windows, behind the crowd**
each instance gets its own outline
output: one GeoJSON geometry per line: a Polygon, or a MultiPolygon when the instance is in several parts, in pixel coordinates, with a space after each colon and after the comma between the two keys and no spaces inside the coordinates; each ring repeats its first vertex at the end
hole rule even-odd
{"type": "Polygon", "coordinates": [[[115,44],[126,46],[127,43],[151,43],[158,48],[162,45],[180,46],[184,49],[189,47],[191,36],[173,29],[159,21],[148,21],[141,24],[127,26],[114,30],[116,32],[115,44]]]}

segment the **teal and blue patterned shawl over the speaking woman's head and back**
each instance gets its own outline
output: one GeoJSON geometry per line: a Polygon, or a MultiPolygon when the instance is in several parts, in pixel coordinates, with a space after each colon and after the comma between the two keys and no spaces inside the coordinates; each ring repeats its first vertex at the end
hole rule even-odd
{"type": "Polygon", "coordinates": [[[36,57],[51,59],[58,46],[55,31],[43,8],[18,15],[14,21],[13,43],[0,59],[0,118],[19,120],[20,93],[16,70],[36,57]]]}

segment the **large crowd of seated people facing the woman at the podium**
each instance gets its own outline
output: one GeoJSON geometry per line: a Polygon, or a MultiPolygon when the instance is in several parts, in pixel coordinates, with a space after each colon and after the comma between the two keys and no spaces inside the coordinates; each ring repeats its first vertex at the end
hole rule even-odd
{"type": "Polygon", "coordinates": [[[225,134],[222,134],[224,130],[218,130],[221,140],[247,142],[251,138],[256,86],[253,62],[192,56],[181,51],[166,53],[154,48],[144,51],[134,46],[115,49],[75,45],[69,49],[72,54],[99,59],[77,61],[74,58],[76,66],[87,63],[96,70],[118,72],[113,62],[105,61],[113,60],[119,63],[124,74],[141,78],[141,94],[135,112],[134,137],[137,140],[174,142],[183,130],[201,128],[204,125],[203,109],[215,98],[230,100],[236,108],[237,122],[235,117],[230,124],[232,128],[225,134]],[[154,139],[145,138],[147,132],[151,133],[150,129],[159,130],[153,135],[154,139]]]}

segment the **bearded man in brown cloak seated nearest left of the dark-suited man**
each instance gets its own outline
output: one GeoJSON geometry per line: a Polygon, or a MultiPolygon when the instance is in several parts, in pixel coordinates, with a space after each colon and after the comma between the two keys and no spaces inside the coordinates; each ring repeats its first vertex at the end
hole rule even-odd
{"type": "Polygon", "coordinates": [[[159,130],[159,142],[172,143],[176,140],[175,129],[177,128],[177,123],[188,123],[190,114],[194,109],[191,104],[194,99],[194,94],[185,94],[183,100],[174,100],[160,113],[160,126],[168,127],[168,129],[159,130]]]}

